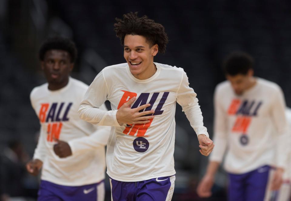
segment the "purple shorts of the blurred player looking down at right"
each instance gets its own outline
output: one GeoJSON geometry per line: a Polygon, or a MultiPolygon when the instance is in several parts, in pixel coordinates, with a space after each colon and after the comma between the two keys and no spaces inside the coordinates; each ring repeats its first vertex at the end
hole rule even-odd
{"type": "Polygon", "coordinates": [[[263,201],[270,166],[265,165],[244,174],[229,174],[229,201],[263,201]]]}

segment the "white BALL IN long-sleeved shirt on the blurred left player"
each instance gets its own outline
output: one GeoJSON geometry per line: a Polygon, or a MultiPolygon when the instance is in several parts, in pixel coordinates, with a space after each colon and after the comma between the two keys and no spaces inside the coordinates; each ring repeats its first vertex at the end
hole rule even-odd
{"type": "MultiPolygon", "coordinates": [[[[79,105],[87,89],[86,84],[70,77],[62,89],[51,91],[45,83],[30,94],[41,125],[33,158],[43,162],[42,180],[82,186],[105,178],[105,145],[110,127],[97,127],[79,118],[79,105]],[[69,143],[72,156],[59,158],[54,153],[55,138],[69,143]]],[[[105,105],[100,108],[107,111],[105,105]]]]}

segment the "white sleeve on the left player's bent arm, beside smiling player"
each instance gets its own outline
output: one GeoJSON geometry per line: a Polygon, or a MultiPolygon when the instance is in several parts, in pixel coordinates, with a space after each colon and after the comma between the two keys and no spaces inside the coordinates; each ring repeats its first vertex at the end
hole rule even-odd
{"type": "MultiPolygon", "coordinates": [[[[100,109],[107,111],[104,104],[100,106],[100,109]]],[[[75,138],[68,142],[73,155],[83,151],[94,150],[106,146],[111,127],[98,125],[94,126],[96,130],[92,133],[92,135],[82,138],[75,138]]]]}

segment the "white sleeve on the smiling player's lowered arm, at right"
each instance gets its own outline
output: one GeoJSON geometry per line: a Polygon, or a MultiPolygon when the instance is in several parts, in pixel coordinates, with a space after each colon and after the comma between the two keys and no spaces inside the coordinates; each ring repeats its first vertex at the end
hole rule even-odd
{"type": "Polygon", "coordinates": [[[203,126],[203,117],[198,104],[197,94],[189,87],[188,77],[183,71],[180,88],[177,91],[177,102],[182,106],[190,125],[196,132],[196,135],[204,134],[209,137],[206,127],[203,126]]]}

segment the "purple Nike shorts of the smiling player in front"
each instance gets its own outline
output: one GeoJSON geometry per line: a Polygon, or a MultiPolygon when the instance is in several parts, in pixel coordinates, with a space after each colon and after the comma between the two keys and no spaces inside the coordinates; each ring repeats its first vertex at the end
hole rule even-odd
{"type": "Polygon", "coordinates": [[[112,201],[171,201],[175,176],[124,182],[110,178],[112,201]]]}

